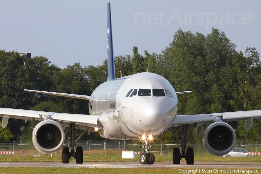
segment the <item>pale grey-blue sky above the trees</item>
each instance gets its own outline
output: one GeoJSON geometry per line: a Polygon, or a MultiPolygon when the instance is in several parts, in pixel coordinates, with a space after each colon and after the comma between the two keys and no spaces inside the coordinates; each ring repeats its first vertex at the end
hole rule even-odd
{"type": "MultiPolygon", "coordinates": [[[[0,50],[42,56],[60,68],[102,65],[107,52],[108,1],[0,0],[0,50]]],[[[160,54],[180,28],[223,31],[237,51],[261,53],[261,1],[111,0],[114,56],[133,46],[160,54]]]]}

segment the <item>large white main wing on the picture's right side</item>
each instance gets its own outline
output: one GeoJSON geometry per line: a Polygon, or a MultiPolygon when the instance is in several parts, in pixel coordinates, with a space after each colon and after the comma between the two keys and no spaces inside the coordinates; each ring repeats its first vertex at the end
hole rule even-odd
{"type": "Polygon", "coordinates": [[[204,124],[214,121],[215,117],[219,117],[223,122],[231,122],[238,120],[246,120],[248,118],[258,119],[261,118],[261,110],[213,113],[213,114],[199,114],[199,115],[177,115],[172,127],[203,122],[204,124]]]}

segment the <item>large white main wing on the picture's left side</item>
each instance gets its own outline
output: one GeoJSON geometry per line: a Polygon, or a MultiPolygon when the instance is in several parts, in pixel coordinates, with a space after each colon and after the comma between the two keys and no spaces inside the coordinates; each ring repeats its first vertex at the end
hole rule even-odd
{"type": "Polygon", "coordinates": [[[2,117],[2,127],[5,128],[9,118],[42,121],[44,115],[50,115],[52,120],[61,124],[61,126],[69,127],[70,123],[80,127],[93,127],[102,129],[102,124],[99,122],[100,115],[83,115],[83,114],[67,114],[67,113],[52,113],[36,110],[10,109],[0,108],[0,117],[2,117]]]}

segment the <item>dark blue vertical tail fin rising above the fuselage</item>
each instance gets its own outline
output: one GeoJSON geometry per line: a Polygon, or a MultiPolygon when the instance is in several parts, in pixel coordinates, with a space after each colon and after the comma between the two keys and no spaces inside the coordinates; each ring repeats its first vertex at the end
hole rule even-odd
{"type": "Polygon", "coordinates": [[[107,14],[107,81],[114,80],[115,78],[115,65],[113,56],[113,40],[111,30],[111,17],[110,17],[110,3],[108,3],[107,14]]]}

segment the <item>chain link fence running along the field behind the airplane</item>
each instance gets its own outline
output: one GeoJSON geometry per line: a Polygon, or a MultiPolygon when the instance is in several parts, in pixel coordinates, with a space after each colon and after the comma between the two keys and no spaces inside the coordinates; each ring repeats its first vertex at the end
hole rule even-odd
{"type": "MultiPolygon", "coordinates": [[[[143,152],[145,149],[139,141],[132,140],[79,140],[76,146],[82,146],[84,156],[121,156],[122,151],[135,151],[143,152]]],[[[69,146],[68,141],[64,142],[64,146],[69,146]]],[[[154,155],[158,156],[172,156],[174,147],[180,147],[180,144],[163,142],[152,142],[150,143],[150,151],[154,155]]],[[[187,144],[187,147],[193,147],[194,153],[206,152],[202,143],[200,144],[187,144]]],[[[261,152],[261,141],[260,142],[246,142],[237,141],[235,147],[244,148],[249,152],[261,152]]],[[[35,147],[31,144],[21,144],[16,142],[0,142],[0,155],[6,156],[41,156],[44,155],[39,153],[35,147]],[[4,153],[4,152],[14,152],[4,153]]],[[[61,156],[62,149],[52,154],[53,156],[61,156]]],[[[259,157],[260,155],[256,155],[259,157]]]]}

